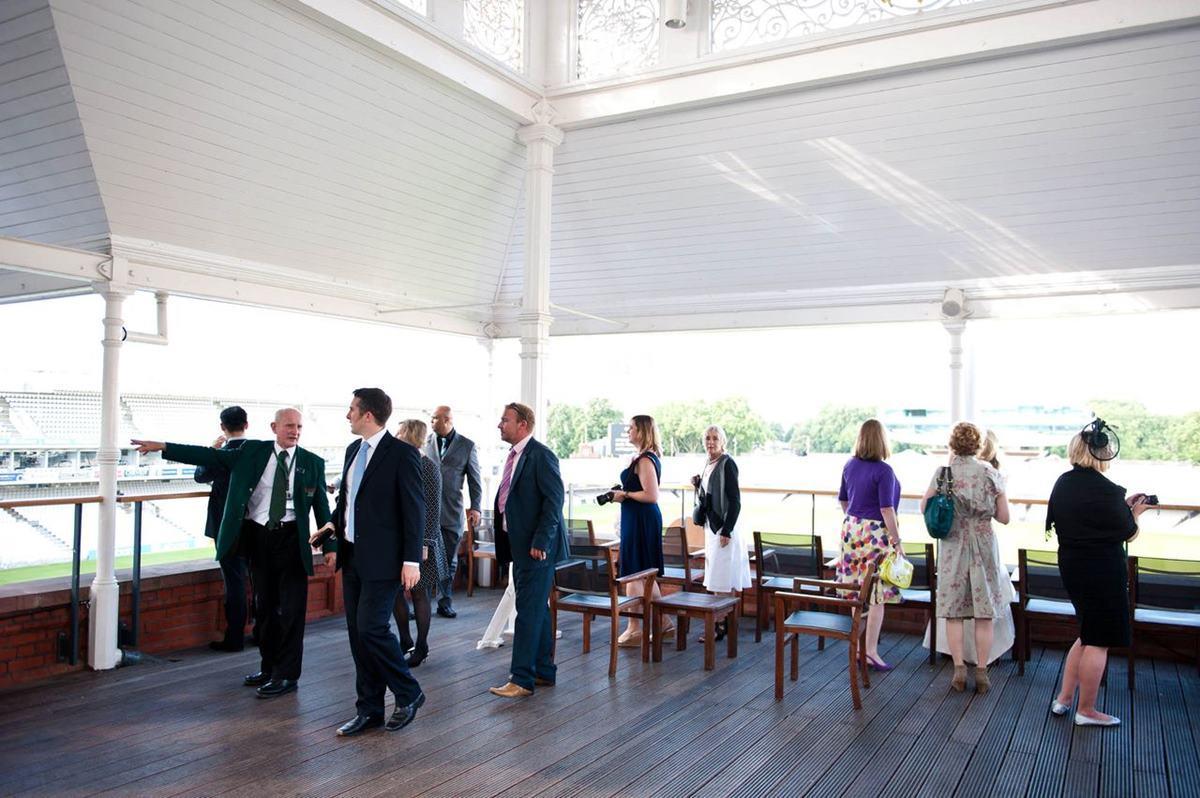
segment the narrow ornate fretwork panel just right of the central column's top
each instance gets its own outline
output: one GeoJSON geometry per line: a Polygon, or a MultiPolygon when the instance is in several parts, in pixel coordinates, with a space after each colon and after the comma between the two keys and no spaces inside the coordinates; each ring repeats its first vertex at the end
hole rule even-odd
{"type": "Polygon", "coordinates": [[[659,0],[578,0],[576,76],[637,74],[659,65],[659,0]]]}

